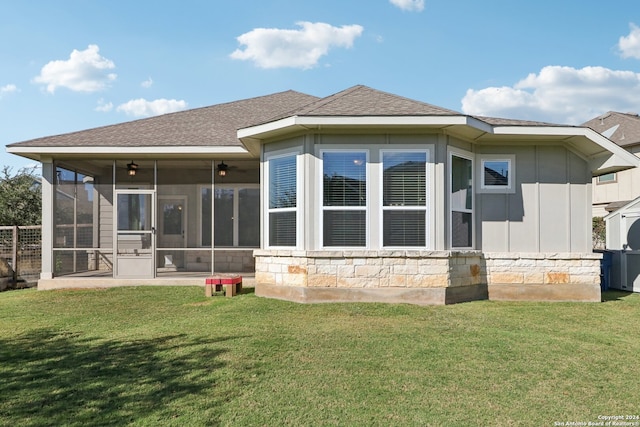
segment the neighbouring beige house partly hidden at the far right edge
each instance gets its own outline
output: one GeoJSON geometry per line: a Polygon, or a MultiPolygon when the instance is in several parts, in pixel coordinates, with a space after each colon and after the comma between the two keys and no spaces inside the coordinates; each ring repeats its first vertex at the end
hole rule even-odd
{"type": "MultiPolygon", "coordinates": [[[[609,111],[582,126],[589,127],[640,157],[640,116],[609,111]]],[[[606,216],[640,196],[640,169],[593,178],[593,216],[606,216]]]]}

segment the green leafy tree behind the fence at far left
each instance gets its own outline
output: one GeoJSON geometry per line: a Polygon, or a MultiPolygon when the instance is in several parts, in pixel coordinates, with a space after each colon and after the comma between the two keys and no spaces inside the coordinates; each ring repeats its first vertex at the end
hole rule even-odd
{"type": "Polygon", "coordinates": [[[33,169],[15,175],[9,166],[0,173],[0,225],[39,225],[42,222],[40,180],[33,169]]]}

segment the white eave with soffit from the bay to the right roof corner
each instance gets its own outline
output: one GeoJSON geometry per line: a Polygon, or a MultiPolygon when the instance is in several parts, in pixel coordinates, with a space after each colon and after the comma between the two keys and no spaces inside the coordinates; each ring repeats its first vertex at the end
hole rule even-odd
{"type": "Polygon", "coordinates": [[[558,142],[584,158],[594,176],[640,167],[640,158],[586,127],[492,125],[472,116],[292,116],[238,130],[238,139],[257,154],[260,144],[300,132],[435,130],[474,144],[525,145],[558,142]]]}

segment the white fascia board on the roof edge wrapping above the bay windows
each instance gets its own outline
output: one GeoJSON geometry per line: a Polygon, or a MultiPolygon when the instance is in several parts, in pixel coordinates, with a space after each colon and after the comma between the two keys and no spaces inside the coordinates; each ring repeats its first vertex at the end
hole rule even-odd
{"type": "Polygon", "coordinates": [[[292,116],[275,122],[238,130],[238,139],[259,138],[261,135],[287,128],[317,128],[322,126],[455,126],[467,125],[488,132],[490,126],[468,116],[292,116]],[[486,128],[486,129],[485,129],[486,128]]]}

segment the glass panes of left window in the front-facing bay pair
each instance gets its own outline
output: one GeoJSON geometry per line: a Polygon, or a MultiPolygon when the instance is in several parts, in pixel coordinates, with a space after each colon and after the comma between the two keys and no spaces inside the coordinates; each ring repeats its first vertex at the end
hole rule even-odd
{"type": "Polygon", "coordinates": [[[323,246],[367,244],[367,152],[322,151],[323,246]]]}

